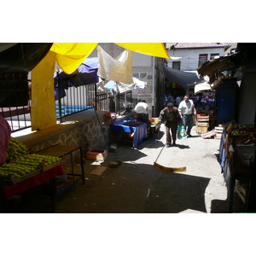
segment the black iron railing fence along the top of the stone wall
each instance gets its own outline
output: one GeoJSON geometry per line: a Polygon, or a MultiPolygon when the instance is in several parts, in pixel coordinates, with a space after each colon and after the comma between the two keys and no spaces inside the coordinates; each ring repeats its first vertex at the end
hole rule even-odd
{"type": "MultiPolygon", "coordinates": [[[[20,79],[22,83],[14,83],[13,77],[9,79],[11,82],[0,78],[0,114],[9,121],[12,132],[31,127],[30,81],[19,77],[20,79]]],[[[55,85],[55,113],[60,122],[65,116],[87,109],[121,113],[125,110],[124,102],[131,102],[133,107],[136,104],[131,90],[116,93],[97,84],[79,87],[69,84],[55,85]]]]}

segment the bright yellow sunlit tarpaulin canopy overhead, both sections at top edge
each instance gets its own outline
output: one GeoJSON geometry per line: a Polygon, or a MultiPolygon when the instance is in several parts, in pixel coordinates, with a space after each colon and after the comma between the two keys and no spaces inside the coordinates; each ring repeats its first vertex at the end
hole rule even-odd
{"type": "MultiPolygon", "coordinates": [[[[54,43],[51,51],[57,54],[56,61],[61,69],[73,73],[79,65],[90,55],[98,43],[54,43]]],[[[143,55],[151,55],[170,59],[163,43],[114,43],[125,49],[136,51],[143,55]]]]}

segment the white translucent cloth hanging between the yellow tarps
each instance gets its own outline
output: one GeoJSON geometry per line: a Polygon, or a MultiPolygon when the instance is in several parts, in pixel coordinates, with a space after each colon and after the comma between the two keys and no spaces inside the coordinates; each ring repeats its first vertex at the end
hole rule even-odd
{"type": "Polygon", "coordinates": [[[102,79],[132,84],[131,51],[125,49],[118,57],[108,55],[101,46],[97,45],[98,73],[102,79]]]}

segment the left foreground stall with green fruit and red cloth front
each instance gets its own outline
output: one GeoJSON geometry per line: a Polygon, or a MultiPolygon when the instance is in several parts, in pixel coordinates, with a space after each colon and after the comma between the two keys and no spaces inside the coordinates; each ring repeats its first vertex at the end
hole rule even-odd
{"type": "Polygon", "coordinates": [[[54,155],[33,153],[30,148],[10,137],[6,162],[0,166],[2,212],[8,212],[13,195],[46,182],[51,183],[52,207],[55,207],[55,177],[64,175],[63,159],[54,155]]]}

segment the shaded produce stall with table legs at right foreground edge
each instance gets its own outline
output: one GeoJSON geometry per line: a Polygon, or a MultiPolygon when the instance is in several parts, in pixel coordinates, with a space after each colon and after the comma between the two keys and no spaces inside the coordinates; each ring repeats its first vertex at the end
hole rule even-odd
{"type": "Polygon", "coordinates": [[[247,205],[255,150],[256,129],[253,125],[230,124],[223,131],[219,145],[219,160],[228,189],[229,212],[232,212],[235,189],[247,205]]]}

